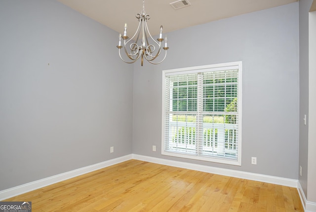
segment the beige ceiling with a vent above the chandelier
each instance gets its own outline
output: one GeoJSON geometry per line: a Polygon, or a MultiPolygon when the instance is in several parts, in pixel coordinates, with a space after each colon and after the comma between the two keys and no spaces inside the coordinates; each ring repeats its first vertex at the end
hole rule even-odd
{"type": "MultiPolygon", "coordinates": [[[[142,0],[58,0],[80,13],[122,33],[127,23],[127,35],[131,37],[138,26],[135,17],[143,9],[142,0]]],[[[163,33],[207,23],[240,14],[268,9],[298,0],[188,0],[191,5],[180,9],[170,6],[175,0],[145,0],[147,22],[152,34],[163,33]]]]}

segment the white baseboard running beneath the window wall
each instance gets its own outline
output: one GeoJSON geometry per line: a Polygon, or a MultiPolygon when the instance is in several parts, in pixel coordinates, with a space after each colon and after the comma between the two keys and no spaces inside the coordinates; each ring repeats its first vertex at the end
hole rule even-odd
{"type": "Polygon", "coordinates": [[[273,183],[273,184],[283,185],[283,186],[288,186],[288,187],[293,187],[293,188],[297,188],[297,183],[298,183],[298,180],[296,179],[256,174],[256,173],[250,173],[250,172],[245,172],[245,171],[228,170],[228,169],[209,167],[209,166],[203,166],[203,165],[198,165],[198,164],[191,164],[191,163],[186,163],[186,162],[154,158],[154,157],[149,157],[149,156],[133,154],[133,159],[151,162],[155,164],[166,165],[166,166],[178,167],[178,168],[183,168],[183,169],[197,170],[197,171],[220,174],[220,175],[225,175],[225,176],[232,176],[232,177],[237,177],[237,178],[242,178],[242,179],[273,183]]]}

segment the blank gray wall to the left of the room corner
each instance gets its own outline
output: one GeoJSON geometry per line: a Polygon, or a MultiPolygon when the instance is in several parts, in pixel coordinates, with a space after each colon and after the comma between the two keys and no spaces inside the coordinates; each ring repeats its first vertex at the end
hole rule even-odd
{"type": "Polygon", "coordinates": [[[132,153],[117,32],[55,0],[1,0],[0,28],[0,190],[132,153]]]}

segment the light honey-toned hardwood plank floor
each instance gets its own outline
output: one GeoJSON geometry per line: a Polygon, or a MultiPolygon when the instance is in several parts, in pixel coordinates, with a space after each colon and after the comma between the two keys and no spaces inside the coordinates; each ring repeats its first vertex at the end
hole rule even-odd
{"type": "Polygon", "coordinates": [[[137,160],[6,201],[33,212],[303,212],[296,188],[137,160]]]}

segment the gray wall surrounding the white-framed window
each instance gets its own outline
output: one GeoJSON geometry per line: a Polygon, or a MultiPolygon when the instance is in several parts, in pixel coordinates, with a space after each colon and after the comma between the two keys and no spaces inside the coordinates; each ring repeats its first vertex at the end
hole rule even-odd
{"type": "Polygon", "coordinates": [[[295,2],[168,33],[163,63],[134,64],[133,153],[298,179],[298,9],[295,2]],[[239,60],[242,166],[162,156],[162,70],[239,60]],[[251,157],[257,157],[257,165],[251,165],[251,157]]]}

